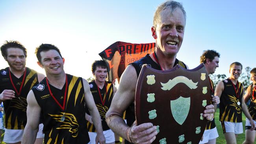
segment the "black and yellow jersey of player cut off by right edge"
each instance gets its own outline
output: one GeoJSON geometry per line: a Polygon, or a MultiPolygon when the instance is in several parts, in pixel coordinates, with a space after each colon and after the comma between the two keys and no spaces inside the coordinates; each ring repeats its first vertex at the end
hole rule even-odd
{"type": "Polygon", "coordinates": [[[249,89],[250,89],[250,105],[248,106],[248,111],[250,113],[250,116],[252,116],[252,119],[256,120],[256,100],[255,100],[256,90],[254,90],[254,87],[252,85],[249,86],[249,89]]]}

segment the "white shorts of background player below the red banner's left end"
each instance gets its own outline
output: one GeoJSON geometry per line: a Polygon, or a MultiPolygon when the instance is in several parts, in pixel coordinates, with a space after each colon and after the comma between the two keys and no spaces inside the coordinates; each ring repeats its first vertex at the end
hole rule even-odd
{"type": "MultiPolygon", "coordinates": [[[[95,138],[97,133],[95,132],[88,132],[90,137],[90,143],[95,144],[95,138]]],[[[106,143],[115,142],[115,134],[111,129],[103,131],[104,137],[106,138],[106,143]]]]}

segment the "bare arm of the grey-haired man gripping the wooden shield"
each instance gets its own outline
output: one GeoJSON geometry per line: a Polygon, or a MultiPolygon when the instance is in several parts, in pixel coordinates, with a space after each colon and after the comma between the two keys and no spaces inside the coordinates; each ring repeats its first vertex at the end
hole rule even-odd
{"type": "Polygon", "coordinates": [[[135,144],[149,144],[156,138],[156,126],[153,126],[152,123],[144,123],[129,127],[122,119],[124,111],[131,103],[134,103],[137,79],[135,68],[128,65],[121,76],[119,88],[106,114],[106,121],[114,133],[121,135],[126,140],[135,144]]]}

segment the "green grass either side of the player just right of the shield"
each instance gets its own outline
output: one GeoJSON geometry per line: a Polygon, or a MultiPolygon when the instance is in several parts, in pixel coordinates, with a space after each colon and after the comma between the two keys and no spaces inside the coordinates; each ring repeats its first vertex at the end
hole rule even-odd
{"type": "MultiPolygon", "coordinates": [[[[221,122],[219,121],[219,109],[217,109],[215,113],[215,124],[217,127],[217,131],[219,133],[219,137],[217,138],[216,144],[226,144],[226,140],[223,134],[223,130],[221,128],[221,122]]],[[[243,114],[243,133],[239,134],[236,138],[237,144],[242,144],[245,140],[245,115],[243,114]]]]}

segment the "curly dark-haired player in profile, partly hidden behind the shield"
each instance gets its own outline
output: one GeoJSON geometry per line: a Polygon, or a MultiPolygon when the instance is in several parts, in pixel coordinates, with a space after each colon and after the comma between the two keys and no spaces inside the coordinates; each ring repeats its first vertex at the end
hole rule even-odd
{"type": "MultiPolygon", "coordinates": [[[[208,72],[208,74],[213,74],[216,68],[219,67],[219,57],[220,57],[220,54],[215,50],[206,50],[200,56],[200,63],[204,63],[204,66],[206,67],[206,71],[208,72]]],[[[217,104],[219,104],[219,97],[214,96],[215,88],[213,85],[213,81],[211,79],[210,79],[210,89],[211,89],[211,95],[212,95],[211,103],[214,105],[214,107],[217,108],[217,104]],[[213,100],[214,101],[217,100],[217,102],[214,102],[213,100]]],[[[199,142],[199,144],[216,144],[217,137],[219,137],[219,135],[215,125],[215,119],[213,118],[211,122],[207,123],[204,131],[203,139],[199,142]]]]}

